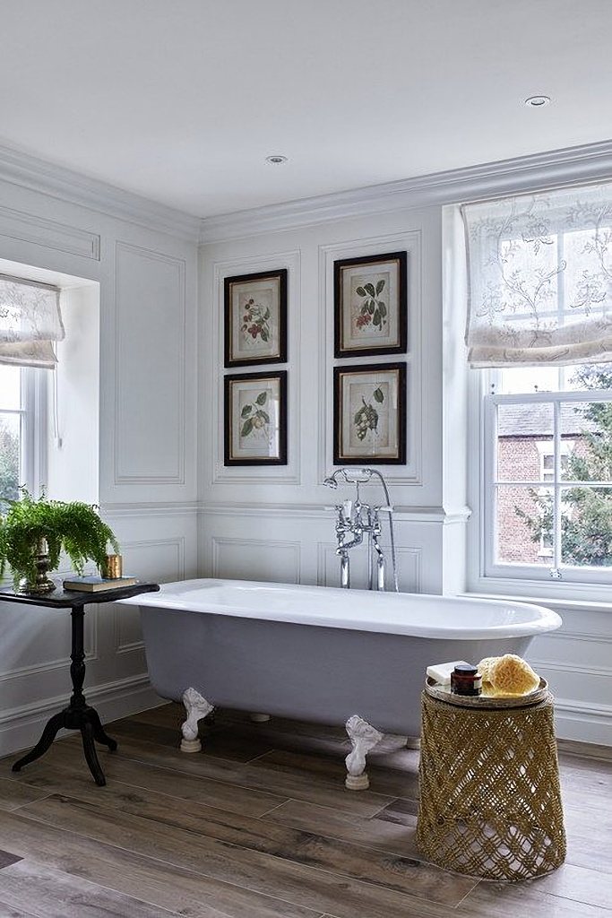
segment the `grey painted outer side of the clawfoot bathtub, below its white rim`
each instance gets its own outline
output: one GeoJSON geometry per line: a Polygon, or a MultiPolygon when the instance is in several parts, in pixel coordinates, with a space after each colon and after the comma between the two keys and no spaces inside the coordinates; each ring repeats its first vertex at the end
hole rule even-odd
{"type": "Polygon", "coordinates": [[[523,655],[529,637],[438,640],[141,606],[150,681],[180,701],[195,688],[215,707],[417,737],[427,666],[523,655]]]}

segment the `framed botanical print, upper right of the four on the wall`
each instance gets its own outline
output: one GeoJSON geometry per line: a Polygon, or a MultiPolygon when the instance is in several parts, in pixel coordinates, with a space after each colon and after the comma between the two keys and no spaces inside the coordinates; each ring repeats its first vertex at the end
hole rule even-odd
{"type": "Polygon", "coordinates": [[[334,356],[406,353],[406,252],[334,262],[334,356]]]}

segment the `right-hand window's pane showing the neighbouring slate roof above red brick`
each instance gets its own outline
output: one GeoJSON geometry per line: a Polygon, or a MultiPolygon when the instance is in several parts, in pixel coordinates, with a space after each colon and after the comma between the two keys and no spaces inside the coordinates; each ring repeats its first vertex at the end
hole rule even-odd
{"type": "Polygon", "coordinates": [[[542,480],[542,458],[551,457],[550,402],[497,406],[497,480],[542,480]]]}

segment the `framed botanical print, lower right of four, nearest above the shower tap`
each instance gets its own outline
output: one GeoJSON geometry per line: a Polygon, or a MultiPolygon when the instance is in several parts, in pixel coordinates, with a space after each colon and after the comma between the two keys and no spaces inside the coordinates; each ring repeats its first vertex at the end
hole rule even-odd
{"type": "Polygon", "coordinates": [[[406,463],[406,364],[334,368],[334,463],[406,463]]]}

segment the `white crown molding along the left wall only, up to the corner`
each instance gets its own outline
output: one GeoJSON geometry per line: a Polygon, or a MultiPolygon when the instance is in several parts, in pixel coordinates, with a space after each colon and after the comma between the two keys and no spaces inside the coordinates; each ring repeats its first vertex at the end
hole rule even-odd
{"type": "Polygon", "coordinates": [[[191,241],[199,238],[200,218],[6,146],[0,146],[0,181],[21,185],[147,229],[191,241]]]}

